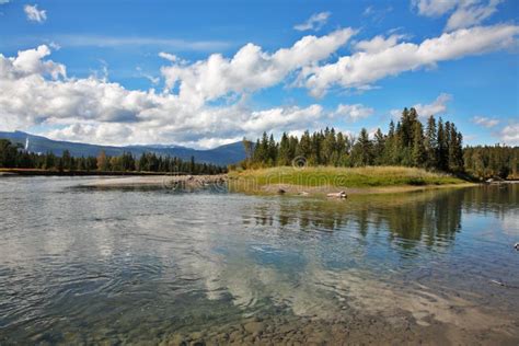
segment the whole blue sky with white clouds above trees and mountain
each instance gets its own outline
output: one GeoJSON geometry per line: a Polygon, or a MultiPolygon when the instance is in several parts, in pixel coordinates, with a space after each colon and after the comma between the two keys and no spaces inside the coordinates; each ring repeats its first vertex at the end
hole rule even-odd
{"type": "Polygon", "coordinates": [[[519,1],[0,0],[0,130],[214,148],[388,129],[519,145],[519,1]]]}

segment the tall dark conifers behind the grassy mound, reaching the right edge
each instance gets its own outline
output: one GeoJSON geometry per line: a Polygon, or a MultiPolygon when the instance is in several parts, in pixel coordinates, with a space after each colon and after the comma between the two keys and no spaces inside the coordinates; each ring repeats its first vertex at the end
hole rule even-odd
{"type": "Polygon", "coordinates": [[[464,149],[463,136],[454,123],[430,116],[424,125],[415,108],[404,108],[396,125],[391,120],[387,134],[379,128],[372,138],[366,128],[357,138],[326,128],[313,134],[307,130],[300,138],[284,132],[279,141],[264,132],[255,143],[243,143],[244,169],[290,165],[303,158],[308,165],[403,165],[477,177],[506,177],[512,173],[517,176],[519,154],[517,147],[464,149]]]}

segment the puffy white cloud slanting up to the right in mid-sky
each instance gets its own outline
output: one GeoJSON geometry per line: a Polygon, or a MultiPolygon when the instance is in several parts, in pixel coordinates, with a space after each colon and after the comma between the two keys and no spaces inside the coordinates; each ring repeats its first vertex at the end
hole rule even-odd
{"type": "Polygon", "coordinates": [[[230,93],[250,93],[278,84],[289,73],[327,58],[355,33],[343,28],[321,37],[304,36],[290,48],[273,54],[250,43],[232,58],[212,54],[191,65],[172,61],[161,72],[169,89],[178,84],[182,100],[200,104],[230,93]]]}

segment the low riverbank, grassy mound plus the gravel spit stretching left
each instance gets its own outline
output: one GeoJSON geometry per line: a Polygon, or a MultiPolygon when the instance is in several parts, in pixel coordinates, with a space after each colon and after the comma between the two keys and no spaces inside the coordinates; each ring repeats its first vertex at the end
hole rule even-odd
{"type": "Polygon", "coordinates": [[[412,168],[272,168],[219,175],[143,175],[102,177],[83,187],[203,188],[226,186],[247,194],[323,196],[341,191],[347,195],[392,194],[431,188],[466,187],[473,183],[445,173],[412,168]]]}

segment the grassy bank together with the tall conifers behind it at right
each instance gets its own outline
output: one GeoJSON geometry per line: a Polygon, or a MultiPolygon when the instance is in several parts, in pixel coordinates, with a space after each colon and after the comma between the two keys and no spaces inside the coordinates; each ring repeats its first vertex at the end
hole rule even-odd
{"type": "Polygon", "coordinates": [[[246,159],[230,166],[229,184],[247,193],[344,196],[518,177],[519,148],[463,147],[454,123],[430,116],[424,125],[415,108],[404,108],[387,134],[325,128],[300,138],[284,132],[279,141],[264,132],[243,143],[246,159]]]}

